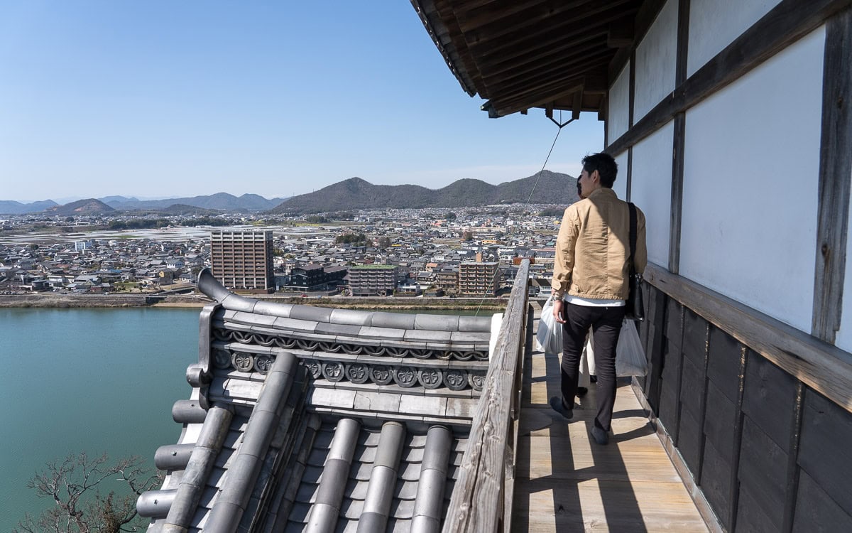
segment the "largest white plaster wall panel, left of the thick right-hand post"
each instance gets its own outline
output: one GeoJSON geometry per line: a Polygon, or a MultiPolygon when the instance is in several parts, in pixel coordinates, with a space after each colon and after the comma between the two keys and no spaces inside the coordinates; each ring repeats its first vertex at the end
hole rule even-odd
{"type": "Polygon", "coordinates": [[[686,115],[681,275],[805,332],[824,41],[815,30],[686,115]]]}

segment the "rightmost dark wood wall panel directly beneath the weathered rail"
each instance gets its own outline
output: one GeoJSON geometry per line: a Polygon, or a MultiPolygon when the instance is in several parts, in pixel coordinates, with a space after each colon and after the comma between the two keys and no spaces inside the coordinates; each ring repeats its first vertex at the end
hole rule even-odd
{"type": "Polygon", "coordinates": [[[852,414],[807,390],[798,464],[852,515],[852,414]]]}

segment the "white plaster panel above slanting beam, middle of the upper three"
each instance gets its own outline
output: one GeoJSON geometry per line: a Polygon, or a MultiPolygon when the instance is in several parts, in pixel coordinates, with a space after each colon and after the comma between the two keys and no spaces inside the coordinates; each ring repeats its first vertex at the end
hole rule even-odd
{"type": "Polygon", "coordinates": [[[636,47],[636,95],[633,124],[675,90],[677,0],[668,0],[636,47]]]}

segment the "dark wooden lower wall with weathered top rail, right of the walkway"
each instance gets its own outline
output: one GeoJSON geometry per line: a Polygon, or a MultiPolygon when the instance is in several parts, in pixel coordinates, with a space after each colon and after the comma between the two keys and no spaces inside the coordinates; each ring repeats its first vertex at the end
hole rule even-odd
{"type": "Polygon", "coordinates": [[[711,531],[852,530],[849,352],[658,265],[644,278],[634,390],[711,531]]]}

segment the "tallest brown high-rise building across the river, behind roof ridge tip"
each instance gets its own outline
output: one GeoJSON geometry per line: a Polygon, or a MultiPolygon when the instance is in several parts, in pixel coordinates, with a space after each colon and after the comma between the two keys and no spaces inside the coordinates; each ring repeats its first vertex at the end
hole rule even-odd
{"type": "Polygon", "coordinates": [[[222,285],[238,291],[272,293],[272,230],[210,232],[213,275],[222,285]]]}

